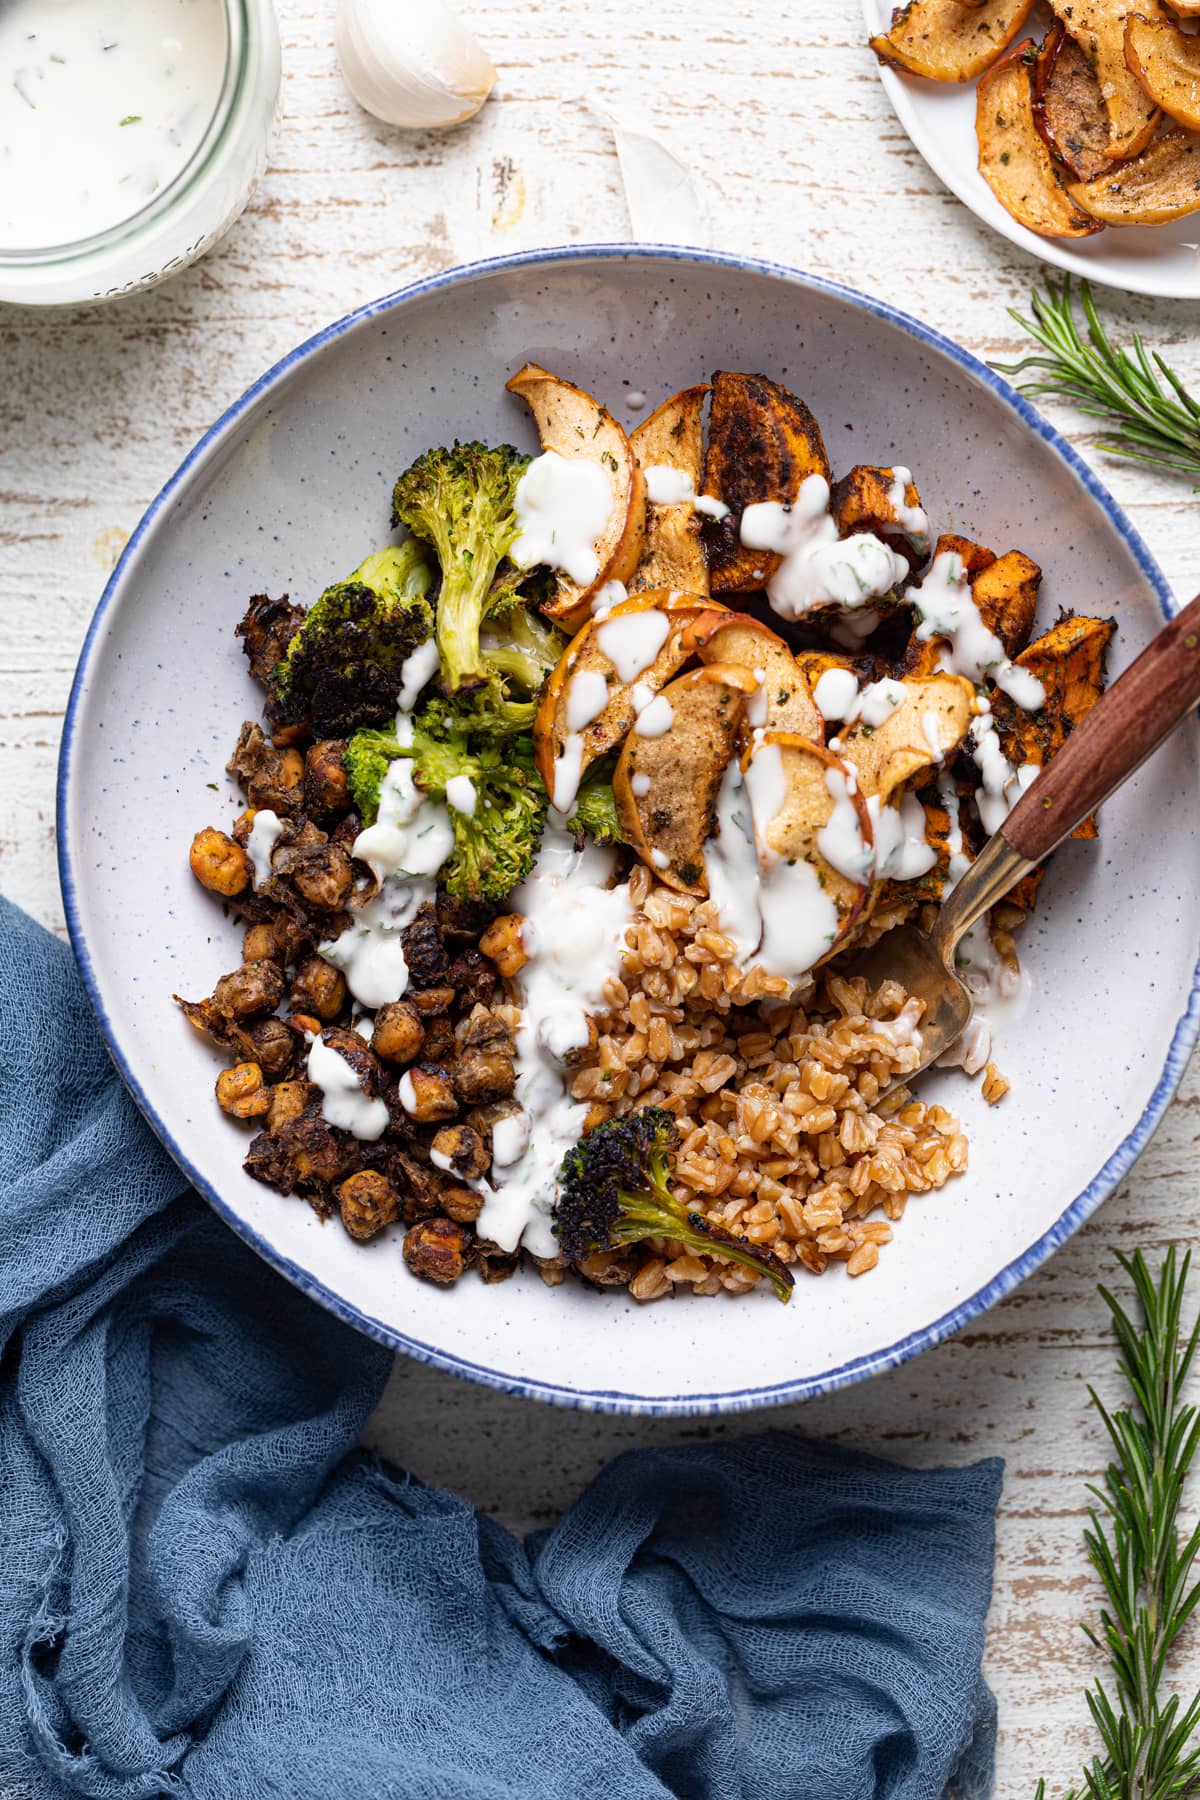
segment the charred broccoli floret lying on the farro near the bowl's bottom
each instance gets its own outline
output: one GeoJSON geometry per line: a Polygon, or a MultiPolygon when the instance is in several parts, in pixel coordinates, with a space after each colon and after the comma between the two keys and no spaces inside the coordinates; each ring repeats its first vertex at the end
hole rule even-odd
{"type": "Polygon", "coordinates": [[[792,1296],[792,1271],[768,1249],[747,1244],[671,1193],[678,1125],[662,1107],[608,1120],[563,1157],[554,1229],[563,1255],[585,1262],[596,1251],[675,1238],[702,1256],[725,1256],[765,1274],[779,1300],[792,1296]]]}

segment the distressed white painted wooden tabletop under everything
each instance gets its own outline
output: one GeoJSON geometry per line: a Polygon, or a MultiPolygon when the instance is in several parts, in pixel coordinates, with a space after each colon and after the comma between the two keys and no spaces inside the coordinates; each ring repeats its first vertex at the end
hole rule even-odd
{"type": "MultiPolygon", "coordinates": [[[[925,169],[862,49],[855,0],[495,0],[471,18],[502,79],[448,135],[401,135],[349,101],[333,0],[281,0],[284,113],[266,178],[225,247],[108,310],[0,310],[0,887],[63,929],[54,761],[83,632],[146,502],[236,394],[299,338],[405,281],[475,256],[628,234],[606,128],[587,97],[642,106],[712,191],[716,245],[880,293],[981,356],[1038,265],[988,234],[925,169]]],[[[1200,387],[1196,310],[1105,297],[1200,387]]],[[[1081,419],[1054,421],[1088,454],[1081,419]]],[[[919,463],[919,446],[914,446],[919,463]]],[[[1187,484],[1097,466],[1180,598],[1200,585],[1187,484]]],[[[1087,596],[1079,596],[1087,603],[1087,596]]],[[[1103,1096],[1097,1096],[1103,1105],[1103,1096]]],[[[399,1361],[371,1438],[515,1525],[547,1523],[631,1444],[801,1427],[914,1463],[1007,1462],[988,1670],[999,1793],[1067,1780],[1088,1741],[1078,1633],[1094,1604],[1083,1487],[1103,1467],[1087,1382],[1112,1390],[1096,1282],[1112,1247],[1200,1226],[1200,1080],[1101,1215],[1018,1294],[909,1368],[729,1424],[596,1418],[399,1361]]],[[[1196,1296],[1200,1301],[1200,1282],[1196,1296]]],[[[1184,1679],[1200,1681],[1200,1645],[1184,1679]]]]}

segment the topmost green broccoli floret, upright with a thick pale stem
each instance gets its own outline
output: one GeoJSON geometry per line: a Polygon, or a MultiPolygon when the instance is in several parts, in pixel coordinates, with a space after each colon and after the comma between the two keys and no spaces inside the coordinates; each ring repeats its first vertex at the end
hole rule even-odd
{"type": "Polygon", "coordinates": [[[430,544],[441,565],[437,653],[446,693],[488,679],[480,626],[516,601],[516,583],[495,585],[518,533],[516,484],[529,457],[511,445],[426,450],[396,482],[392,513],[430,544]]]}

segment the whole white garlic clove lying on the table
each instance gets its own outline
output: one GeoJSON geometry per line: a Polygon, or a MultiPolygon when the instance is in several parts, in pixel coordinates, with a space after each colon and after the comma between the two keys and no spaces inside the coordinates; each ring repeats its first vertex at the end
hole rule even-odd
{"type": "Polygon", "coordinates": [[[480,41],[441,0],[338,0],[335,43],[358,104],[408,131],[461,124],[497,83],[480,41]]]}

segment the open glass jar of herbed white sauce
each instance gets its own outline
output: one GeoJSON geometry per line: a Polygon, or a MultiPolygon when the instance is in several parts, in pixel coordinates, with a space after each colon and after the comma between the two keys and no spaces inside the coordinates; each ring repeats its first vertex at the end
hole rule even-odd
{"type": "Polygon", "coordinates": [[[279,81],[272,0],[0,0],[0,301],[194,263],[254,191],[279,81]]]}

